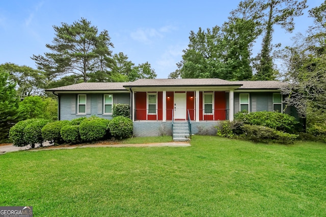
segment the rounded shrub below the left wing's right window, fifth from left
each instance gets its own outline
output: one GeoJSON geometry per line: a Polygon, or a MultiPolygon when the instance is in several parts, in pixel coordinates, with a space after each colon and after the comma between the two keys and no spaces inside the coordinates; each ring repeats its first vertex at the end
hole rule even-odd
{"type": "Polygon", "coordinates": [[[108,134],[110,120],[92,116],[83,120],[79,125],[80,138],[84,141],[96,141],[105,139],[108,134]]]}

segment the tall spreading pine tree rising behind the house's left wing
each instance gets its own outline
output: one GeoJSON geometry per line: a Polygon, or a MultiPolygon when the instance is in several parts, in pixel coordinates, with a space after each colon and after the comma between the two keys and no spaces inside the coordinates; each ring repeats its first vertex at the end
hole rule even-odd
{"type": "Polygon", "coordinates": [[[53,26],[56,32],[53,44],[45,45],[51,52],[44,53],[44,56],[33,55],[38,69],[51,78],[72,73],[84,82],[89,80],[91,72],[104,71],[111,61],[110,48],[113,47],[107,30],[98,34],[97,27],[85,18],[71,25],[61,24],[53,26]]]}

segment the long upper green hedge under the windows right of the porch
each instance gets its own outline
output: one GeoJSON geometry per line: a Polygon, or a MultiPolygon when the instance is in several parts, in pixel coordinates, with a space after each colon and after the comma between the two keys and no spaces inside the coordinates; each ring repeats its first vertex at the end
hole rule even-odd
{"type": "Polygon", "coordinates": [[[295,117],[291,115],[269,111],[238,112],[234,115],[234,119],[249,125],[265,126],[287,133],[296,132],[299,124],[295,117]]]}

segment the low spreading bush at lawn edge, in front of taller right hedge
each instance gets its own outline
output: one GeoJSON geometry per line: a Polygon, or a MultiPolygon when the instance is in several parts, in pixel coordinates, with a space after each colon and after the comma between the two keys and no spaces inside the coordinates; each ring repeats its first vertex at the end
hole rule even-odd
{"type": "Polygon", "coordinates": [[[284,133],[265,126],[243,125],[241,126],[242,138],[254,142],[277,142],[283,144],[292,144],[298,135],[284,133]]]}

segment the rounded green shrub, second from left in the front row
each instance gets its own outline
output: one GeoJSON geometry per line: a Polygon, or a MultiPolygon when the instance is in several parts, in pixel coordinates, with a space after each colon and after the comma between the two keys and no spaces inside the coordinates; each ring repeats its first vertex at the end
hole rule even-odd
{"type": "Polygon", "coordinates": [[[33,119],[33,121],[29,122],[24,129],[24,140],[27,144],[31,144],[32,148],[34,148],[35,143],[42,143],[44,141],[42,137],[42,128],[49,123],[49,120],[37,118],[33,119]]]}

